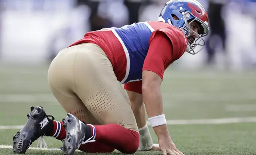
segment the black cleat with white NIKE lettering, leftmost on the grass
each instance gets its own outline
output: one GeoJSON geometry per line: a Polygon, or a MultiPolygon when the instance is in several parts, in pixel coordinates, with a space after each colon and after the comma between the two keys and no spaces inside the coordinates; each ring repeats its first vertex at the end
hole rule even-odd
{"type": "MultiPolygon", "coordinates": [[[[47,115],[43,107],[31,107],[30,110],[30,113],[27,114],[26,124],[13,137],[12,148],[14,153],[25,153],[35,140],[45,135],[45,126],[51,121],[48,117],[52,116],[47,115]]],[[[52,117],[52,120],[54,120],[54,117],[52,117]]]]}

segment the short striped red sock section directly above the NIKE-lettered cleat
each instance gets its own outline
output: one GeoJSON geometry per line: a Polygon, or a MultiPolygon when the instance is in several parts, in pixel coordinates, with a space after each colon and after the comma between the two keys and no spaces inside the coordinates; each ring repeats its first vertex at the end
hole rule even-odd
{"type": "Polygon", "coordinates": [[[52,137],[58,140],[63,140],[66,138],[66,130],[62,126],[63,124],[63,122],[53,121],[52,137]]]}

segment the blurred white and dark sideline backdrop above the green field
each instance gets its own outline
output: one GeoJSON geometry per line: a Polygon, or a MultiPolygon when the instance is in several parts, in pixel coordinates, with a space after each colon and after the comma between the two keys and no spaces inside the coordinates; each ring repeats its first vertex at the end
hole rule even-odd
{"type": "MultiPolygon", "coordinates": [[[[50,62],[91,30],[158,19],[167,0],[0,0],[0,62],[50,62]]],[[[256,67],[256,0],[199,0],[210,34],[203,51],[178,66],[256,67]],[[191,65],[192,64],[192,65],[191,65]]]]}

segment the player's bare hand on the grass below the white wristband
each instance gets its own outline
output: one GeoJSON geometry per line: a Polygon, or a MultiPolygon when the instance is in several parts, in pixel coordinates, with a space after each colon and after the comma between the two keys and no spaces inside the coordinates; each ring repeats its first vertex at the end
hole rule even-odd
{"type": "Polygon", "coordinates": [[[163,155],[184,155],[176,148],[170,136],[158,137],[158,143],[163,155]]]}

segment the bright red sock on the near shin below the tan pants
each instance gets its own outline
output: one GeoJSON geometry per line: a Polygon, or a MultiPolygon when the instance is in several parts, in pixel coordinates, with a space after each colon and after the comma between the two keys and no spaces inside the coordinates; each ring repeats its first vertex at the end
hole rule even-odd
{"type": "Polygon", "coordinates": [[[102,142],[122,153],[134,153],[138,150],[140,144],[139,132],[117,124],[90,125],[90,127],[91,135],[96,142],[102,142]]]}

